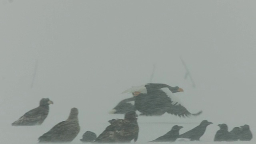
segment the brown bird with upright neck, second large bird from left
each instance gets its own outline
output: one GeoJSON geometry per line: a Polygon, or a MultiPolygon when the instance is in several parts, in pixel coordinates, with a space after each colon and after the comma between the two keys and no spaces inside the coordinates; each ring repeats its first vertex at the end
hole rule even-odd
{"type": "Polygon", "coordinates": [[[72,108],[67,120],[56,124],[38,140],[39,142],[71,142],[79,131],[78,109],[72,108]]]}

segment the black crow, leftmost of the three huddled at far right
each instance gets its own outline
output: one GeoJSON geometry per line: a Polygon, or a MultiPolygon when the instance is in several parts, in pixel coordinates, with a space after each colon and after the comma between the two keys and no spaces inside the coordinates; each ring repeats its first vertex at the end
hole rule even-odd
{"type": "Polygon", "coordinates": [[[218,124],[218,126],[220,127],[220,130],[216,132],[214,141],[227,141],[229,139],[228,126],[226,124],[218,124]]]}

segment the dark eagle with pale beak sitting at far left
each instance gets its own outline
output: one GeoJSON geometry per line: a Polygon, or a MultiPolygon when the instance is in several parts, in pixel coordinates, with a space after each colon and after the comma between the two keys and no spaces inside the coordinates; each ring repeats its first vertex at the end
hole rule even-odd
{"type": "Polygon", "coordinates": [[[53,104],[49,98],[40,100],[40,105],[26,112],[22,117],[12,123],[12,126],[35,126],[41,125],[49,112],[49,105],[53,104]]]}

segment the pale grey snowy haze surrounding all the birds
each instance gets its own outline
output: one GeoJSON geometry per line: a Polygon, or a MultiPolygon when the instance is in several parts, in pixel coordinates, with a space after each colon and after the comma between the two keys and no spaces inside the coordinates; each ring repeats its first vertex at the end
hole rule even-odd
{"type": "Polygon", "coordinates": [[[149,82],[154,64],[153,82],[183,88],[182,104],[203,113],[139,116],[137,143],[175,124],[186,132],[204,119],[214,124],[201,142],[190,144],[214,143],[221,123],[229,130],[249,124],[256,134],[255,5],[254,0],[1,0],[1,143],[35,144],[73,107],[81,130],[72,143],[81,144],[87,130],[99,135],[108,120],[123,118],[108,111],[131,97],[121,94],[124,90],[149,82]],[[184,80],[180,56],[196,88],[184,80]],[[41,126],[11,126],[41,98],[54,102],[41,126]]]}

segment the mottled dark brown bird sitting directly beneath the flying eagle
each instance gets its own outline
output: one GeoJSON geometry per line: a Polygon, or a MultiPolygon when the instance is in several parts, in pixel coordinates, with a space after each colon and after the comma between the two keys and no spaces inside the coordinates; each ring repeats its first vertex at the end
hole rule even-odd
{"type": "Polygon", "coordinates": [[[139,127],[137,114],[134,111],[127,112],[124,119],[111,120],[102,134],[96,138],[96,143],[127,143],[138,139],[139,127]]]}

